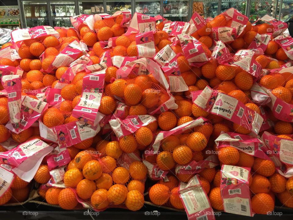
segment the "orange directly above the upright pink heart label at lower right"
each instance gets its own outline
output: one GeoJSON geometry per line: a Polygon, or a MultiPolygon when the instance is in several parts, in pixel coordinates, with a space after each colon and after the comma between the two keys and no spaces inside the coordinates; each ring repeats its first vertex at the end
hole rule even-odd
{"type": "Polygon", "coordinates": [[[236,148],[228,146],[219,149],[219,161],[226,165],[235,165],[239,160],[239,152],[236,148]]]}

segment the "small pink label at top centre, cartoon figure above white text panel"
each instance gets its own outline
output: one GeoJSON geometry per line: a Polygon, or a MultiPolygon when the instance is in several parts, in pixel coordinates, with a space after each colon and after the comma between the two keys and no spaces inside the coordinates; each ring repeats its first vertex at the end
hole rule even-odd
{"type": "Polygon", "coordinates": [[[136,34],[136,49],[139,57],[153,57],[156,53],[152,31],[136,34]]]}

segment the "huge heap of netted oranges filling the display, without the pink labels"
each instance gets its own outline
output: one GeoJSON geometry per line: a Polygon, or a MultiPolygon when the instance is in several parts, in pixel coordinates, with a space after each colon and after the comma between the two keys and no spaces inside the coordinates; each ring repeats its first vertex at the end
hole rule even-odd
{"type": "MultiPolygon", "coordinates": [[[[88,51],[81,52],[77,59],[87,55],[93,65],[106,62],[101,59],[105,52],[108,52],[110,57],[138,56],[136,33],[126,35],[127,28],[121,26],[121,19],[122,15],[96,20],[93,30],[86,23],[79,25],[77,30],[57,28],[56,31],[60,35],[58,38],[48,35],[21,42],[18,49],[20,60],[0,58],[0,67],[13,66],[24,71],[21,76],[23,96],[28,95],[38,99],[38,95],[31,95],[28,91],[40,90],[46,86],[60,90],[60,94],[57,94],[61,97],[60,101],[50,106],[40,116],[40,121],[46,127],[53,129],[56,126],[81,120],[72,116],[72,112],[84,92],[86,85],[83,79],[89,74],[88,69],[84,68],[76,72],[73,79],[65,84],[62,83],[62,79],[63,75],[70,70],[69,66],[47,71],[55,57],[71,42],[78,41],[86,44],[88,51]],[[109,40],[115,46],[109,47],[107,43],[109,40]]],[[[157,22],[156,31],[153,33],[156,53],[167,45],[171,46],[176,53],[180,70],[180,73],[174,73],[172,76],[182,77],[182,83],[188,87],[186,91],[171,93],[163,83],[164,81],[171,83],[170,75],[161,74],[161,77],[165,79],[159,79],[156,72],[148,69],[145,70],[146,74],[137,75],[135,71],[131,71],[127,77],[121,78],[119,67],[110,61],[106,62],[107,67],[102,69],[104,71],[103,96],[100,103],[97,103],[99,112],[106,115],[103,124],[100,124],[101,131],[96,136],[85,138],[80,143],[67,148],[70,162],[66,165],[63,180],[58,183],[59,187],[50,185],[52,176],[46,157],[44,158],[34,175],[34,181],[40,184],[39,195],[48,204],[59,205],[66,210],[77,209],[85,203],[98,211],[108,207],[123,207],[137,211],[143,207],[145,199],[156,205],[184,210],[179,183],[188,183],[197,175],[212,208],[224,210],[220,188],[221,166],[232,165],[251,168],[248,179],[250,195],[248,196],[254,213],[267,214],[273,211],[276,199],[286,207],[293,208],[293,177],[287,178],[277,173],[277,165],[272,160],[252,156],[233,146],[219,148],[215,144],[215,139],[222,132],[253,135],[251,130],[219,115],[206,112],[191,100],[193,92],[204,90],[206,86],[209,86],[219,93],[237,99],[260,115],[263,109],[268,112],[266,117],[274,123],[274,126],[266,130],[261,129],[259,137],[264,131],[268,131],[287,139],[288,143],[293,141],[292,123],[277,119],[269,106],[263,105],[259,108],[259,104],[251,97],[251,88],[254,83],[258,83],[275,97],[285,103],[293,104],[293,71],[288,69],[287,72],[282,71],[282,73],[279,73],[279,70],[271,72],[272,69],[284,67],[284,64],[291,60],[270,35],[274,30],[271,24],[264,23],[255,26],[248,21],[242,33],[233,41],[225,43],[225,46],[233,55],[239,50],[250,48],[257,34],[269,34],[270,40],[264,53],[256,53],[252,57],[259,63],[262,72],[253,76],[243,67],[219,63],[212,57],[212,50],[210,50],[215,45],[212,30],[217,27],[231,27],[232,24],[231,19],[227,20],[225,16],[218,15],[204,27],[190,33],[199,41],[205,55],[209,58],[209,61],[201,67],[196,67],[186,60],[181,44],[175,43],[177,41],[174,41],[174,36],[163,31],[164,23],[157,22]],[[164,105],[170,105],[168,102],[171,100],[175,100],[178,108],[167,108],[167,110],[161,108],[164,105]],[[122,109],[121,105],[118,107],[119,103],[123,104],[123,116],[121,115],[120,118],[117,116],[117,112],[122,109]],[[129,124],[124,123],[133,116],[143,118],[149,114],[152,114],[155,120],[147,125],[138,125],[130,119],[129,124]],[[206,119],[205,123],[182,129],[185,123],[193,122],[199,117],[206,119]],[[130,132],[116,137],[114,128],[110,130],[112,126],[109,124],[110,119],[119,119],[117,121],[124,119],[120,126],[126,127],[130,132]],[[128,125],[137,127],[131,130],[128,125]],[[107,128],[111,132],[108,132],[107,128]],[[173,129],[181,129],[181,131],[167,137],[162,135],[173,129]],[[156,138],[160,139],[158,151],[149,155],[147,151],[153,149],[156,138]],[[201,164],[206,161],[214,165],[184,174],[177,169],[187,167],[190,163],[201,164]],[[158,174],[157,179],[150,178],[152,182],[146,182],[147,174],[152,171],[152,167],[148,164],[158,168],[155,171],[156,174],[159,171],[168,174],[164,178],[158,174]],[[148,194],[146,198],[144,193],[148,194]]],[[[2,49],[9,46],[13,47],[13,43],[4,44],[2,49]]],[[[120,68],[122,70],[123,66],[120,68]]],[[[0,88],[4,89],[2,85],[0,88]]],[[[39,127],[29,127],[19,134],[13,133],[5,127],[9,120],[8,98],[1,96],[0,143],[12,139],[16,145],[20,145],[34,138],[44,140],[39,127]]],[[[57,146],[56,143],[44,141],[57,146]]],[[[0,145],[0,151],[7,151],[4,143],[0,145]]],[[[286,166],[292,167],[288,163],[286,166]]],[[[0,198],[0,205],[27,200],[30,189],[29,182],[16,176],[11,188],[0,198]]]]}

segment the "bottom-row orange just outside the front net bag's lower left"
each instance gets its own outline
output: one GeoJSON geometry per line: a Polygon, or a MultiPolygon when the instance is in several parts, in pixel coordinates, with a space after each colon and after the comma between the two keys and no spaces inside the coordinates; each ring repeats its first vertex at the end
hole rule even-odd
{"type": "Polygon", "coordinates": [[[71,210],[77,206],[78,201],[75,198],[74,192],[69,188],[65,188],[59,193],[58,204],[63,209],[71,210]]]}

